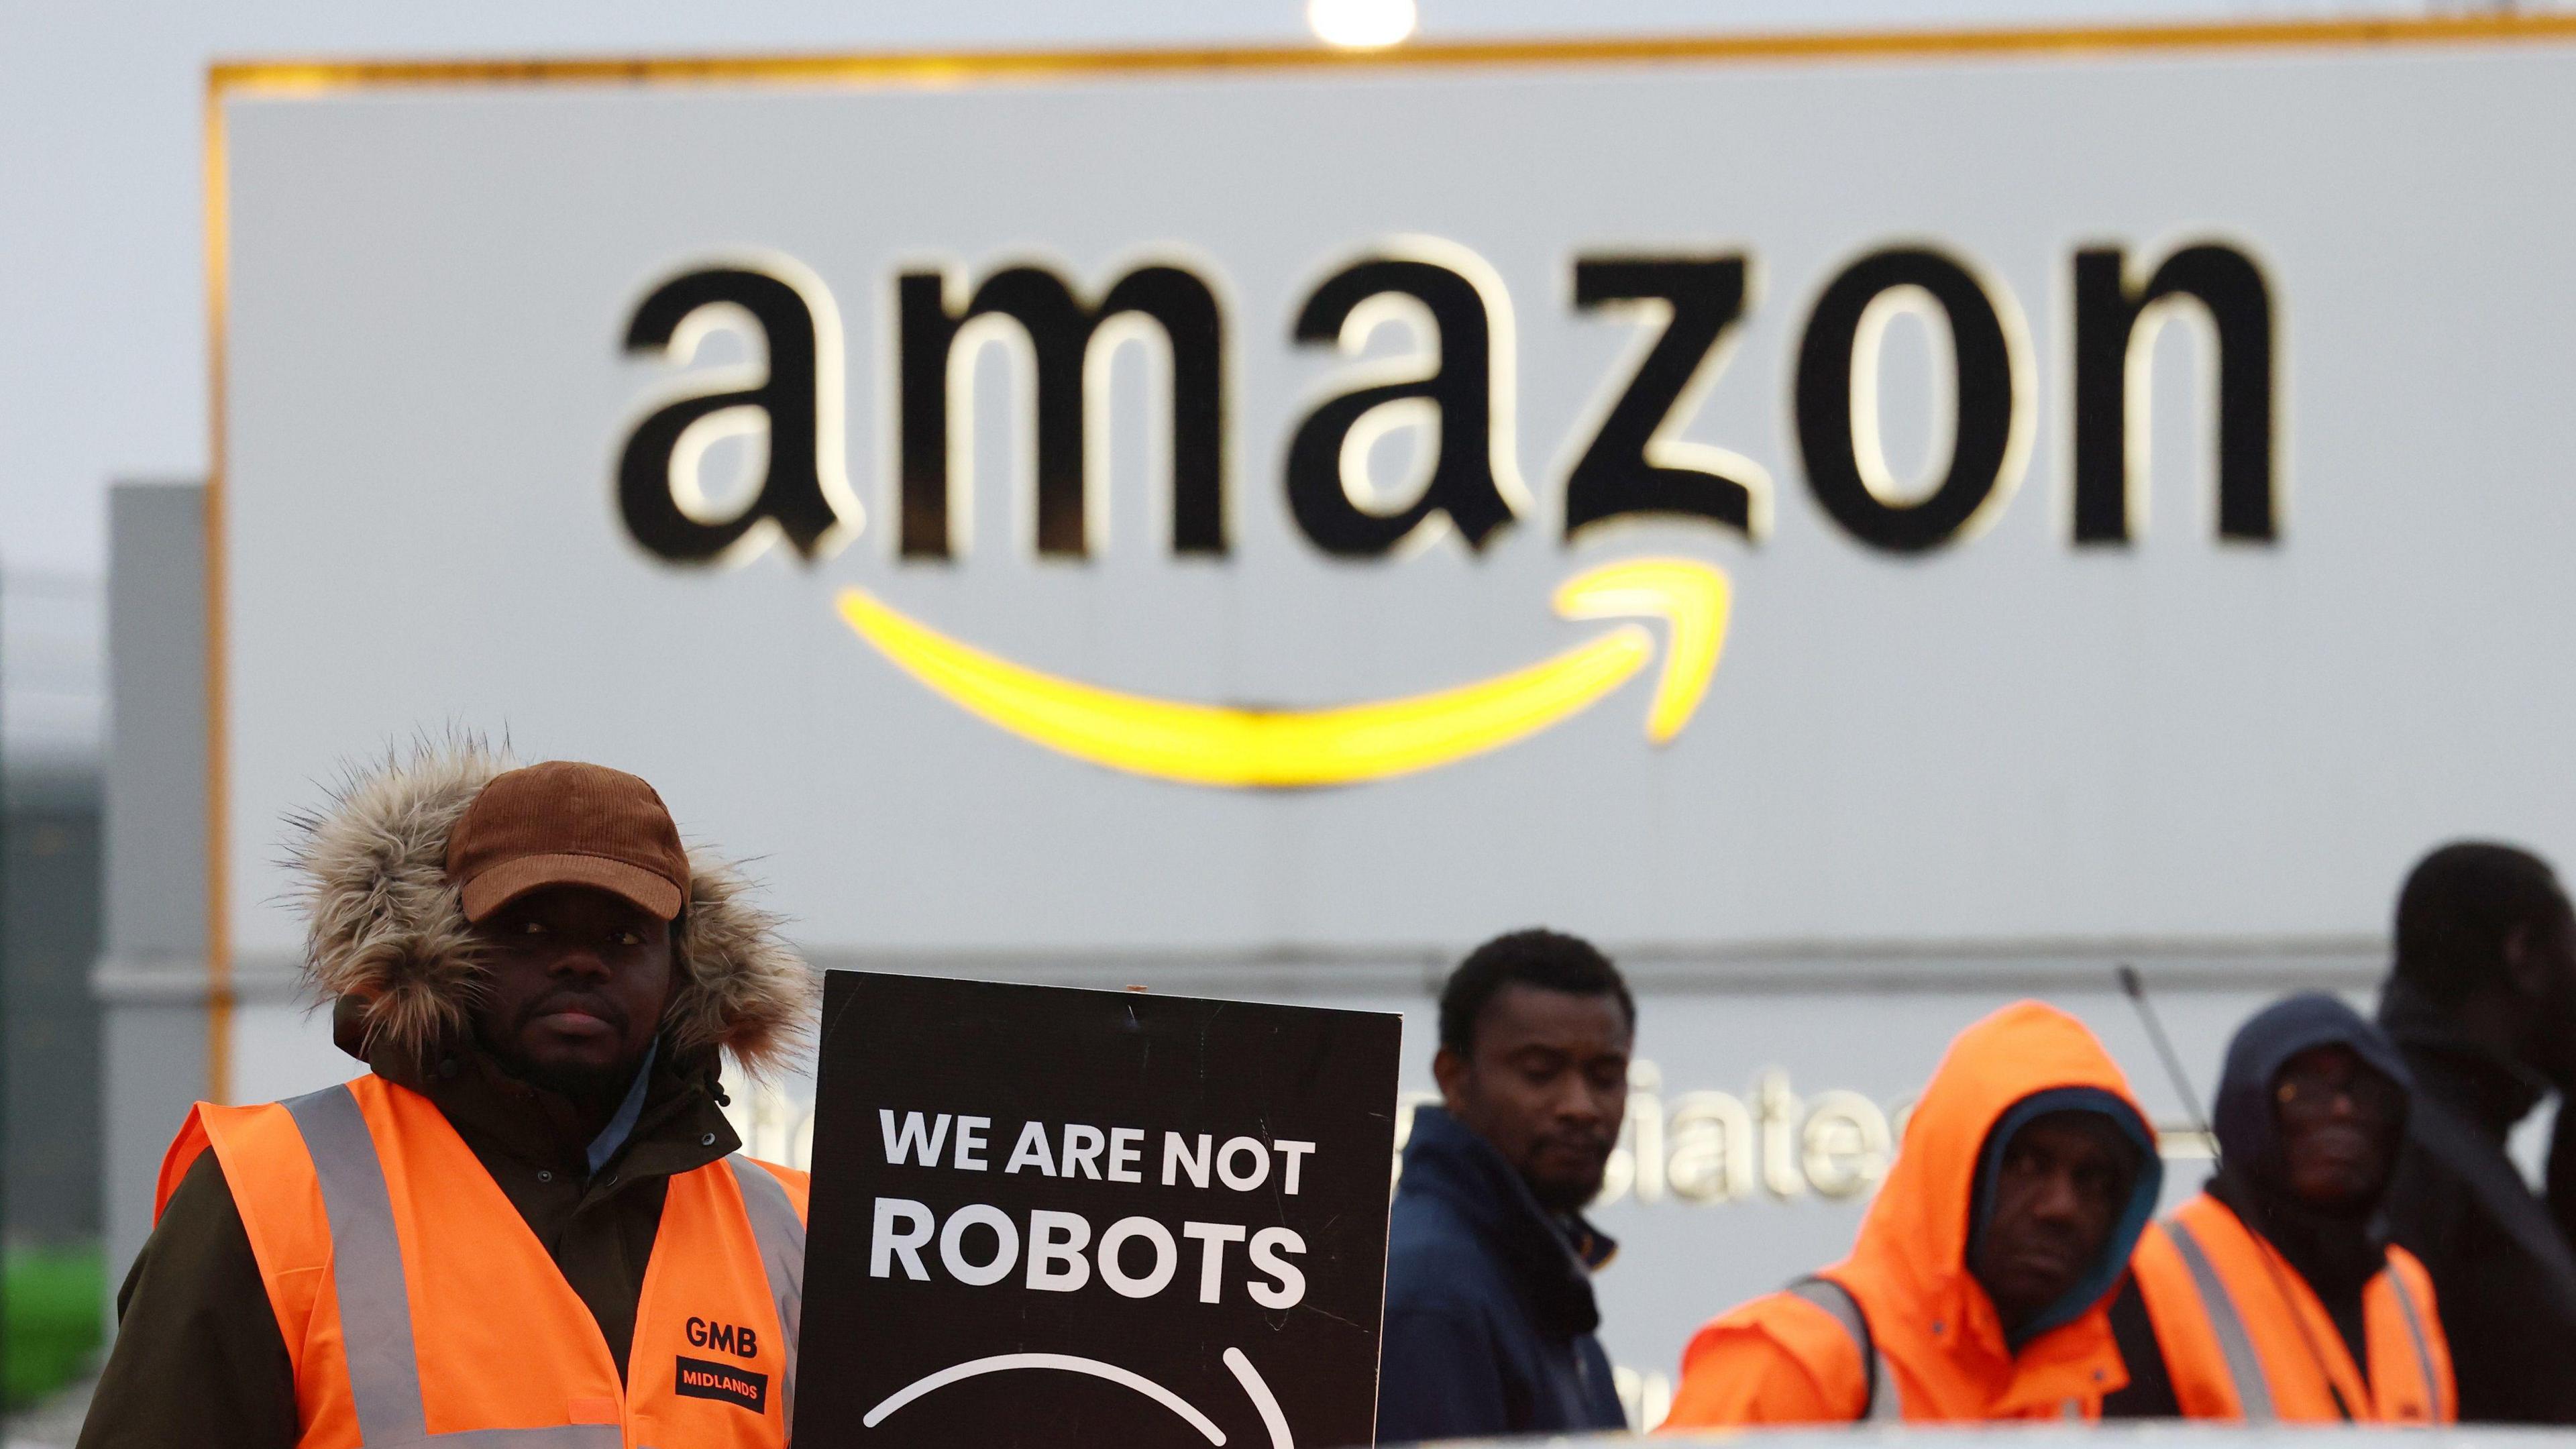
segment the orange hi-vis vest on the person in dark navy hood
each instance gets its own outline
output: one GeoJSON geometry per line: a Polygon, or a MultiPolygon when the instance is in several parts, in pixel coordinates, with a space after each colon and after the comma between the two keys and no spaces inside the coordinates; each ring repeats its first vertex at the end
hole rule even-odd
{"type": "Polygon", "coordinates": [[[2298,1269],[2223,1201],[2197,1196],[2130,1258],[2184,1418],[2452,1423],[2450,1341],[2406,1248],[2362,1287],[2370,1379],[2298,1269]],[[2329,1392],[2331,1385],[2331,1392],[2329,1392]]]}

